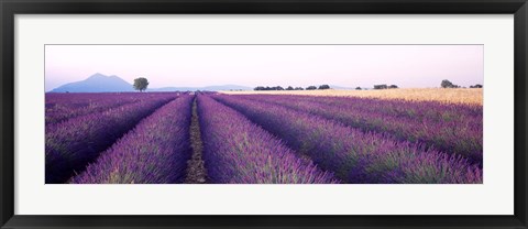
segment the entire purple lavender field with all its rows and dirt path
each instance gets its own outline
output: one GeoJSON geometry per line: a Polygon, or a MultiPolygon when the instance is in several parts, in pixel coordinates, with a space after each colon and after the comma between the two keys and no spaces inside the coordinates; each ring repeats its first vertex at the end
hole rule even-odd
{"type": "Polygon", "coordinates": [[[46,94],[46,184],[482,184],[483,107],[307,95],[46,94]]]}

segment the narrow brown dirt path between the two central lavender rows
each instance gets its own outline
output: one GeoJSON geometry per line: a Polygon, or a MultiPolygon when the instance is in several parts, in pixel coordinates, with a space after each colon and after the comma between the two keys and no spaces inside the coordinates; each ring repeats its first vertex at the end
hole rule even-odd
{"type": "Polygon", "coordinates": [[[204,143],[201,142],[196,98],[193,101],[193,117],[190,120],[190,146],[193,149],[193,155],[190,160],[187,161],[187,175],[184,183],[207,184],[209,183],[209,178],[207,177],[207,170],[202,160],[204,143]]]}

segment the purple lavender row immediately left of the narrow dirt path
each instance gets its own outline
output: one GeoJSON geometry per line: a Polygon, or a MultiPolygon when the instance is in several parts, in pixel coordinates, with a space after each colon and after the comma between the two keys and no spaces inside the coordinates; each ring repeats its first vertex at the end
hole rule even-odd
{"type": "Polygon", "coordinates": [[[180,96],[143,119],[70,183],[180,183],[190,159],[193,98],[180,96]]]}

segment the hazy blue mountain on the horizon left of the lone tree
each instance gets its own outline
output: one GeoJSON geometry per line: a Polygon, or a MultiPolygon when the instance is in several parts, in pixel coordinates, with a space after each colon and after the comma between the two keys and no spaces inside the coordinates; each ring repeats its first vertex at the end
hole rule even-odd
{"type": "Polygon", "coordinates": [[[117,92],[133,91],[131,84],[118,76],[106,76],[97,73],[85,80],[65,84],[50,92],[117,92]]]}

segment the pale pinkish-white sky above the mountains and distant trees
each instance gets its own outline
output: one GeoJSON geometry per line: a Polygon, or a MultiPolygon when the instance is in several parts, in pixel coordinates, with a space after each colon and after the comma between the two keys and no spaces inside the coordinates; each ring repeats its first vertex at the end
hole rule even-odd
{"type": "Polygon", "coordinates": [[[46,45],[46,91],[101,73],[150,88],[483,84],[483,45],[46,45]]]}

